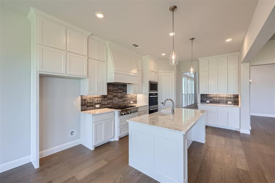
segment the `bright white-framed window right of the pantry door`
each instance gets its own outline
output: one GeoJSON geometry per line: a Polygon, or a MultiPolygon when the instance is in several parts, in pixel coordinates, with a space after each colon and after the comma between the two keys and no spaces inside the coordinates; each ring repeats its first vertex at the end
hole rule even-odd
{"type": "Polygon", "coordinates": [[[183,73],[183,107],[194,104],[194,74],[183,73]]]}

